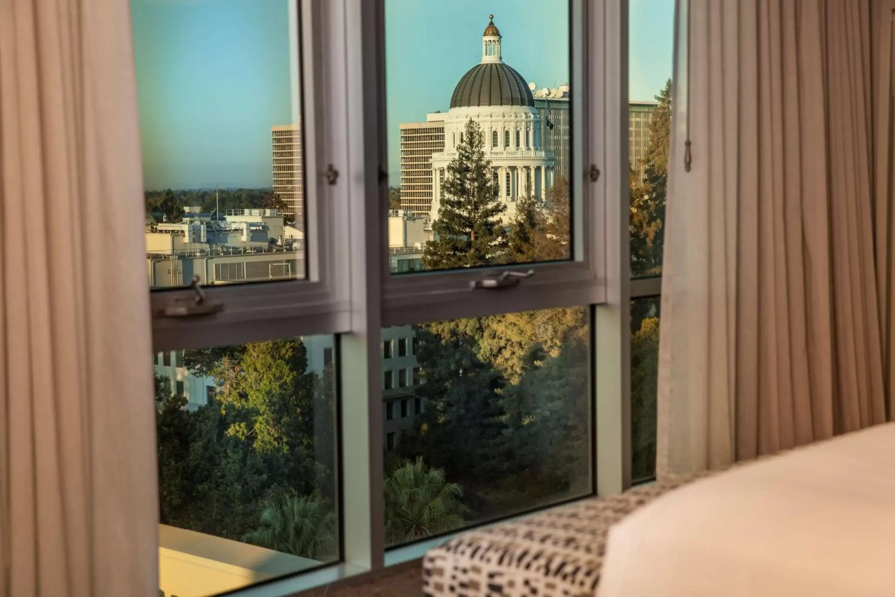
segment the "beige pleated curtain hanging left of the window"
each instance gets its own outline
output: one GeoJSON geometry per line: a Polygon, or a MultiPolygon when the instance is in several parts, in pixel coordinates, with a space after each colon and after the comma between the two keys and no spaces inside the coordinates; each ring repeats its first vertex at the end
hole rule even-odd
{"type": "Polygon", "coordinates": [[[158,597],[127,0],[0,0],[0,596],[158,597]]]}

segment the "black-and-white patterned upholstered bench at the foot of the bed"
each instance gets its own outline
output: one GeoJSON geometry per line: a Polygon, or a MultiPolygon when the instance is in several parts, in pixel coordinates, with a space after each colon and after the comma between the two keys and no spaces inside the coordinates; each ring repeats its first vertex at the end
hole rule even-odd
{"type": "Polygon", "coordinates": [[[422,560],[426,597],[592,597],[609,527],[707,473],[673,476],[463,533],[422,560]]]}

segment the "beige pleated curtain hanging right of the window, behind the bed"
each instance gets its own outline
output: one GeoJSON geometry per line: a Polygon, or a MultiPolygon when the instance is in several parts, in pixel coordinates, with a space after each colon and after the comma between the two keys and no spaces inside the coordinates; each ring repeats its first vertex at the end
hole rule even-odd
{"type": "Polygon", "coordinates": [[[660,474],[886,419],[870,0],[679,4],[660,474]]]}

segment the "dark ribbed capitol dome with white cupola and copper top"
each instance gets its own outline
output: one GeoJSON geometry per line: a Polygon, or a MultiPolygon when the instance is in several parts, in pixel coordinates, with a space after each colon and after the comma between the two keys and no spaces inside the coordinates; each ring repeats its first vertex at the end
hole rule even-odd
{"type": "Polygon", "coordinates": [[[450,107],[524,106],[534,107],[532,91],[512,66],[500,55],[500,31],[494,15],[482,35],[482,62],[471,68],[454,88],[450,107]]]}

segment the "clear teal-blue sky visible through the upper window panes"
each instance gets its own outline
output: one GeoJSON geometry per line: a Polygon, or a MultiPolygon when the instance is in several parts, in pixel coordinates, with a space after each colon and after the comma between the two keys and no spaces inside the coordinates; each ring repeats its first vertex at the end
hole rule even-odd
{"type": "MultiPolygon", "coordinates": [[[[132,0],[148,189],[269,187],[270,127],[290,124],[289,0],[132,0]]],[[[674,0],[630,0],[629,96],[671,76],[674,0]]],[[[504,62],[538,88],[569,82],[563,0],[386,0],[389,183],[398,124],[445,111],[482,58],[489,13],[504,62]]]]}

